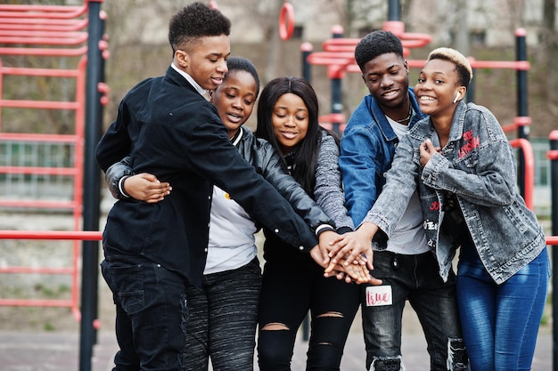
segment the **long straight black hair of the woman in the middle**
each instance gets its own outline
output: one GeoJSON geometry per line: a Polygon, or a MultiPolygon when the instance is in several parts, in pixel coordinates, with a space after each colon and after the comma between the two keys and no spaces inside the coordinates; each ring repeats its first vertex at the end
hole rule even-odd
{"type": "MultiPolygon", "coordinates": [[[[277,77],[264,87],[258,101],[258,126],[256,136],[269,141],[275,150],[282,155],[283,166],[287,168],[286,153],[283,153],[273,133],[271,120],[275,103],[285,93],[298,95],[308,109],[308,132],[306,137],[297,144],[293,157],[291,175],[300,183],[308,195],[314,195],[316,186],[316,164],[319,154],[322,131],[318,123],[318,101],[312,85],[300,77],[277,77]]],[[[337,139],[337,138],[336,138],[337,139]]]]}

